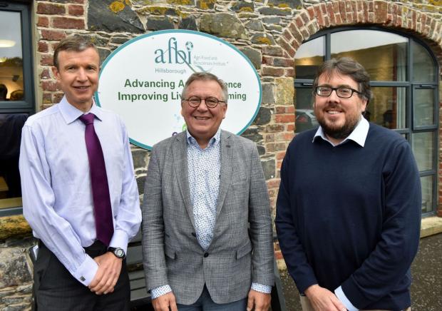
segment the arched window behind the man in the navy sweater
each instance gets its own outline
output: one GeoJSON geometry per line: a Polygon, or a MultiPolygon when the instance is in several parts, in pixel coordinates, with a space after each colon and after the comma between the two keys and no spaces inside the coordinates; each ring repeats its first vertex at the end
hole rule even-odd
{"type": "Polygon", "coordinates": [[[349,56],[366,68],[374,98],[369,121],[401,133],[411,144],[422,184],[422,213],[436,210],[438,66],[425,44],[384,29],[332,29],[299,47],[295,57],[297,133],[317,126],[311,86],[319,65],[349,56]],[[309,116],[311,115],[311,116],[309,116]]]}

